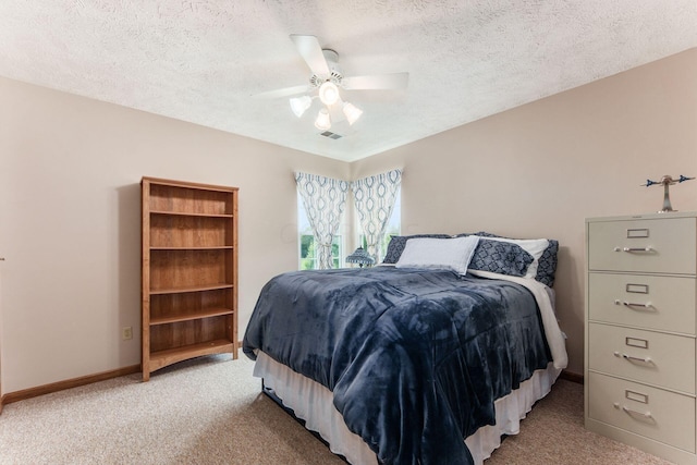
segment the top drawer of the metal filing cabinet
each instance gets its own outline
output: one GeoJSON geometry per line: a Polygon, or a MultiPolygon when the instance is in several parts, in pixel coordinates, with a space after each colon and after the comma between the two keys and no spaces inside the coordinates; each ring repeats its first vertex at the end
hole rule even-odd
{"type": "Polygon", "coordinates": [[[694,218],[588,223],[590,270],[695,274],[694,218]]]}

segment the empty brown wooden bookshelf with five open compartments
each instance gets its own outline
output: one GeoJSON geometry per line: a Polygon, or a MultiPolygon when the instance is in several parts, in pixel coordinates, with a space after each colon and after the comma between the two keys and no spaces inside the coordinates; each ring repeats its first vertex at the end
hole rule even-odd
{"type": "Polygon", "coordinates": [[[143,380],[237,357],[237,188],[143,178],[143,380]]]}

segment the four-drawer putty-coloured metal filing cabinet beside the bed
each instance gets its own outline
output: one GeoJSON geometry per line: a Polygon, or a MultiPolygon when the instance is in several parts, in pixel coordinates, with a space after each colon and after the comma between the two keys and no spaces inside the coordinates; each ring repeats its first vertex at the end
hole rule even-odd
{"type": "Polygon", "coordinates": [[[586,428],[697,464],[697,212],[586,220],[586,428]]]}

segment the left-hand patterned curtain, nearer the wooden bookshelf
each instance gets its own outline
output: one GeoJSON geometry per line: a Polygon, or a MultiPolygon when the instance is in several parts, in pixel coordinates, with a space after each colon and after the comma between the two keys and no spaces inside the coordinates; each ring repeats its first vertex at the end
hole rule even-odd
{"type": "Polygon", "coordinates": [[[331,242],[341,223],[348,183],[307,173],[295,173],[295,182],[313,228],[319,269],[329,269],[332,266],[331,242]]]}

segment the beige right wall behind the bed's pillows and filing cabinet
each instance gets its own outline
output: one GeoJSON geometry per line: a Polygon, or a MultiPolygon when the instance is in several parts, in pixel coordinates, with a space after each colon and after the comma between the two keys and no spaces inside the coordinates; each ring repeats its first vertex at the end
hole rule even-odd
{"type": "MultiPolygon", "coordinates": [[[[583,374],[584,220],[655,212],[647,178],[697,175],[697,49],[352,163],[352,178],[404,167],[402,232],[560,242],[558,315],[583,374]]],[[[697,181],[671,188],[697,210],[697,181]]]]}

